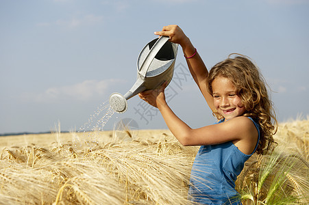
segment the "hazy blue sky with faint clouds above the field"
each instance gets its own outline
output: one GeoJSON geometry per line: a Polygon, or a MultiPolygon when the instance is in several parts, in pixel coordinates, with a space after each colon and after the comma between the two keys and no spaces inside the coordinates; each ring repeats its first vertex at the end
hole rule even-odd
{"type": "MultiPolygon", "coordinates": [[[[280,122],[309,114],[309,1],[0,1],[0,133],[79,131],[112,92],[136,80],[153,31],[177,24],[210,69],[230,53],[254,59],[280,122]]],[[[169,104],[189,126],[214,118],[187,76],[181,47],[169,104]]],[[[126,113],[138,128],[166,128],[136,96],[126,113]]],[[[104,104],[106,105],[106,104],[104,104]]],[[[98,119],[105,111],[101,111],[98,119]]]]}

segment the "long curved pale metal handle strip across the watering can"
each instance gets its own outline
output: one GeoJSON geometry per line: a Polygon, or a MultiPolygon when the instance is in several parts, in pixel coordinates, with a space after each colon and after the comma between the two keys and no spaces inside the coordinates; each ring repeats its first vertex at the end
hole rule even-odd
{"type": "Polygon", "coordinates": [[[143,64],[140,68],[140,77],[145,78],[146,72],[148,71],[148,68],[153,61],[153,58],[156,57],[157,53],[160,51],[162,46],[169,40],[168,36],[161,36],[156,43],[152,46],[152,48],[149,51],[149,54],[145,58],[145,61],[143,61],[143,64]]]}

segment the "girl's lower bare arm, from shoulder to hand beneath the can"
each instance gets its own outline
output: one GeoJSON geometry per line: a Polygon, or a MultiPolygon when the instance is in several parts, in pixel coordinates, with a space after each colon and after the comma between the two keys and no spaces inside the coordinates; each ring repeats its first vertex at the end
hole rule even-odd
{"type": "Polygon", "coordinates": [[[190,128],[167,105],[164,95],[166,84],[164,83],[158,90],[141,92],[138,96],[159,109],[169,130],[182,145],[200,146],[233,141],[243,153],[253,152],[258,139],[258,131],[249,118],[240,116],[220,124],[190,128]]]}

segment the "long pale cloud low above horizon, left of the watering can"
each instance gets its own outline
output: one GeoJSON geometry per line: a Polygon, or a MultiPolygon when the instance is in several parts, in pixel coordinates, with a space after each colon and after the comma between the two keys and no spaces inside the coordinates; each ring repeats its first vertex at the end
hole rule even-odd
{"type": "Polygon", "coordinates": [[[50,87],[42,93],[24,93],[22,100],[32,102],[55,102],[64,99],[87,101],[92,98],[103,97],[108,87],[124,83],[119,79],[108,79],[103,81],[88,80],[75,85],[66,85],[62,87],[50,87]]]}

